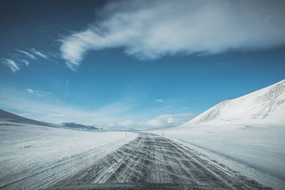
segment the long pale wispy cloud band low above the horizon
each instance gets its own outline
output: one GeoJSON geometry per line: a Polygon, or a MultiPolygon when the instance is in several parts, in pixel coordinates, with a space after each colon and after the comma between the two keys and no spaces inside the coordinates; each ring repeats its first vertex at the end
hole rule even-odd
{"type": "MultiPolygon", "coordinates": [[[[25,91],[33,95],[39,92],[46,95],[46,92],[30,88],[25,91]]],[[[83,110],[80,107],[63,105],[62,102],[58,102],[55,95],[46,96],[45,100],[48,102],[43,102],[41,96],[31,97],[23,91],[0,88],[0,92],[1,109],[28,113],[29,115],[23,116],[46,122],[79,122],[100,127],[162,127],[180,125],[189,121],[193,116],[192,113],[180,113],[159,115],[145,120],[126,120],[130,118],[128,113],[140,105],[137,97],[125,97],[123,100],[94,110],[83,110]]]]}

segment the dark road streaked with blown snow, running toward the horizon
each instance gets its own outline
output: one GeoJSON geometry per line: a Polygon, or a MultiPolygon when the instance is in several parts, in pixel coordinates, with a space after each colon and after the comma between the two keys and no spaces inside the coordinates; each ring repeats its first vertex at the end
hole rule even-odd
{"type": "Polygon", "coordinates": [[[156,134],[142,132],[133,142],[94,162],[91,167],[58,181],[52,188],[118,183],[266,189],[256,181],[207,159],[189,147],[156,134]]]}

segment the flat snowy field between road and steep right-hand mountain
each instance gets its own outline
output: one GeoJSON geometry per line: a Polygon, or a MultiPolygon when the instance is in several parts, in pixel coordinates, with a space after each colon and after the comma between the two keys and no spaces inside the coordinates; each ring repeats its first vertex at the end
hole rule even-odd
{"type": "MultiPolygon", "coordinates": [[[[153,131],[162,135],[162,131],[153,131]]],[[[227,164],[261,184],[285,186],[285,127],[218,125],[177,127],[164,136],[227,164]]]]}

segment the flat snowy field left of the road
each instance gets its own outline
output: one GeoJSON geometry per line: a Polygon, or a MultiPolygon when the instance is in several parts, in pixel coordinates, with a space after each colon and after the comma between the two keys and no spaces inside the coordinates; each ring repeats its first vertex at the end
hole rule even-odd
{"type": "Polygon", "coordinates": [[[137,134],[83,132],[35,125],[0,125],[0,188],[44,188],[86,169],[137,134]]]}

